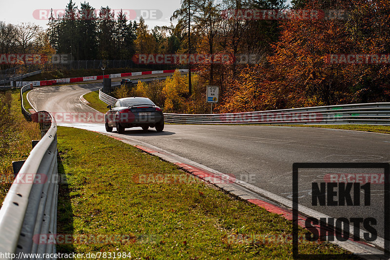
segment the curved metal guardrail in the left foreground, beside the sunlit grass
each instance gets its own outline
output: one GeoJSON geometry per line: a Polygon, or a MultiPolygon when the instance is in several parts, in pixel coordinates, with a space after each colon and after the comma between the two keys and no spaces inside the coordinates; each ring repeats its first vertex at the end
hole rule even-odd
{"type": "Polygon", "coordinates": [[[40,243],[39,234],[57,233],[57,124],[46,111],[34,113],[33,120],[50,128],[31,150],[0,209],[1,259],[56,253],[55,243],[40,243]]]}

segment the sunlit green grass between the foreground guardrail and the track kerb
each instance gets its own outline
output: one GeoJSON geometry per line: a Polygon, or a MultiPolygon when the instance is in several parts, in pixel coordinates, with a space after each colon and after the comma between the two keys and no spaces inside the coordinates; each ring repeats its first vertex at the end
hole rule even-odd
{"type": "MultiPolygon", "coordinates": [[[[130,252],[133,259],[292,259],[291,243],[231,239],[234,234],[291,234],[290,221],[203,182],[137,184],[140,174],[180,178],[186,173],[108,136],[59,127],[58,142],[59,174],[67,179],[59,186],[58,233],[131,240],[75,242],[59,245],[59,252],[130,252]]],[[[299,250],[347,253],[328,243],[299,250]]]]}

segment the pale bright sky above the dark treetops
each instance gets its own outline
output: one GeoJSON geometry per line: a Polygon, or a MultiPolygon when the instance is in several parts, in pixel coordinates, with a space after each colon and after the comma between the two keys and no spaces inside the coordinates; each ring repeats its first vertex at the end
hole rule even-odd
{"type": "MultiPolygon", "coordinates": [[[[43,29],[47,28],[50,9],[65,9],[69,0],[0,0],[0,21],[6,23],[19,24],[21,22],[32,22],[43,29]]],[[[84,2],[84,0],[82,0],[84,2]]],[[[291,0],[287,0],[290,3],[291,0]]],[[[81,0],[74,0],[80,7],[81,0]]],[[[101,6],[109,6],[111,9],[119,11],[124,10],[132,18],[139,21],[139,16],[145,19],[145,23],[152,29],[156,25],[169,26],[170,18],[173,12],[180,7],[180,0],[90,0],[89,2],[95,9],[101,6]]],[[[126,16],[129,19],[129,16],[126,16]]],[[[173,22],[176,24],[176,21],[173,22]]]]}

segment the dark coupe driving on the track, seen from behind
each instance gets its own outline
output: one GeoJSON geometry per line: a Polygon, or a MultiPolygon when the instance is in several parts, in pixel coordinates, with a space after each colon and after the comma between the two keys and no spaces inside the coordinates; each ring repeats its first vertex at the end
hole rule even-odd
{"type": "Polygon", "coordinates": [[[164,115],[159,107],[146,97],[125,97],[117,100],[115,105],[107,106],[105,115],[106,131],[117,128],[118,133],[124,133],[125,128],[141,127],[143,130],[156,128],[157,132],[164,129],[164,115]]]}

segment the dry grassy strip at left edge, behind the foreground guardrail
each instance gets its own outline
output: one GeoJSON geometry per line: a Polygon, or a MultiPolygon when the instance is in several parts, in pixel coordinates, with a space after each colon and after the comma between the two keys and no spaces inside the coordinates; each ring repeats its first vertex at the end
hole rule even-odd
{"type": "Polygon", "coordinates": [[[26,159],[38,139],[39,125],[21,114],[20,90],[0,92],[0,203],[14,179],[12,161],[26,159]]]}

